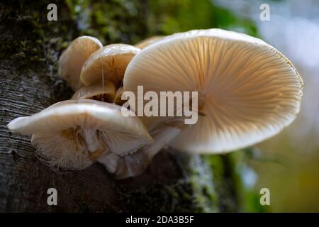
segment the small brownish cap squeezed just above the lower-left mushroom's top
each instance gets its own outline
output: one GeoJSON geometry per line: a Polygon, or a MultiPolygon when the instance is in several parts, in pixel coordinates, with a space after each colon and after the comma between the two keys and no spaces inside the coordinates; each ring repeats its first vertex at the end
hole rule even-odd
{"type": "Polygon", "coordinates": [[[77,90],[72,99],[94,99],[98,101],[113,102],[116,96],[116,87],[111,82],[98,82],[77,90]]]}

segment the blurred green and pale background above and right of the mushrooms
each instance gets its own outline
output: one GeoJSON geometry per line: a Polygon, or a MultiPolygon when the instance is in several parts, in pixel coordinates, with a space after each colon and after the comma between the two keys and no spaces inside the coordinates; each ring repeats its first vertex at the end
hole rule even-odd
{"type": "MultiPolygon", "coordinates": [[[[134,44],[151,35],[224,28],[262,38],[283,52],[305,82],[301,114],[274,138],[226,155],[237,179],[233,193],[240,198],[241,211],[319,211],[318,1],[113,0],[103,4],[79,0],[67,4],[80,33],[94,35],[104,45],[110,40],[134,44]],[[270,6],[270,21],[259,19],[262,3],[270,6]],[[86,9],[89,5],[91,10],[86,9]],[[259,204],[263,187],[270,189],[270,206],[259,204]]],[[[222,156],[204,158],[213,171],[223,171],[215,165],[222,156]]]]}

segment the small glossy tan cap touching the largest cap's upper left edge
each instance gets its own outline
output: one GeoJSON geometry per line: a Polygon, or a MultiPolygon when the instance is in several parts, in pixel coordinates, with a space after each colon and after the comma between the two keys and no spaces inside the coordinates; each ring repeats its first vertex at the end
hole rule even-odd
{"type": "Polygon", "coordinates": [[[118,87],[128,63],[139,51],[140,48],[127,44],[111,44],[96,50],[82,67],[82,82],[94,84],[104,77],[118,87]]]}

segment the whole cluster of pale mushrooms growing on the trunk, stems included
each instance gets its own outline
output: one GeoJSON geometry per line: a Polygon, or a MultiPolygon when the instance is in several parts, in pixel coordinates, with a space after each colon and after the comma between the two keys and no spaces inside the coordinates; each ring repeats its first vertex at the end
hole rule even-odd
{"type": "MultiPolygon", "coordinates": [[[[165,146],[226,153],[279,133],[298,114],[303,82],[291,62],[258,38],[220,29],[103,47],[75,39],[59,74],[74,95],[8,125],[32,135],[36,154],[57,170],[94,162],[123,179],[140,174],[165,146]],[[198,122],[181,117],[123,116],[123,92],[198,92],[198,122]]],[[[128,111],[135,112],[135,101],[128,111]]],[[[175,106],[177,108],[177,106],[175,106]]]]}

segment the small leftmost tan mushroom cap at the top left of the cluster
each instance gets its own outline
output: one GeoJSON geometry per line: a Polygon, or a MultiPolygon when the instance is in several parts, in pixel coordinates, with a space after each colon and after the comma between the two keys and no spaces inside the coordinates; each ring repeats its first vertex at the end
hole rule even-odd
{"type": "Polygon", "coordinates": [[[92,52],[102,47],[102,43],[97,38],[84,35],[73,40],[71,45],[62,52],[59,60],[59,74],[74,91],[82,87],[79,76],[84,62],[92,52]]]}

